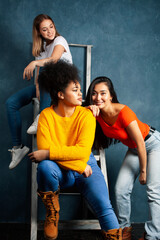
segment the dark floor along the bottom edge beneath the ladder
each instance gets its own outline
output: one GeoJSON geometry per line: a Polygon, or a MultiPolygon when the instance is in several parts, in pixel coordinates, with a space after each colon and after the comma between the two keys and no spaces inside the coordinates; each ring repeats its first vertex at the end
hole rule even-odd
{"type": "MultiPolygon", "coordinates": [[[[144,231],[143,224],[133,224],[132,240],[138,240],[144,231]]],[[[59,231],[57,240],[100,240],[101,233],[92,231],[59,231]]],[[[0,240],[30,240],[30,226],[24,224],[0,224],[0,240]]],[[[44,240],[43,231],[38,231],[37,240],[44,240]]]]}

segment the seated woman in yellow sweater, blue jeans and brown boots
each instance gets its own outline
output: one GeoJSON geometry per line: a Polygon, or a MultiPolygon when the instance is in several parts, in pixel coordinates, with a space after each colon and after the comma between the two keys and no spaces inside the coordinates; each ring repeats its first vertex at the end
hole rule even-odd
{"type": "Polygon", "coordinates": [[[39,75],[50,93],[52,106],[39,117],[38,151],[29,154],[39,163],[39,195],[46,208],[45,236],[58,235],[58,189],[76,186],[99,219],[104,239],[122,239],[122,230],[109,201],[104,176],[91,153],[96,121],[81,106],[82,93],[77,68],[63,61],[48,63],[39,75]]]}

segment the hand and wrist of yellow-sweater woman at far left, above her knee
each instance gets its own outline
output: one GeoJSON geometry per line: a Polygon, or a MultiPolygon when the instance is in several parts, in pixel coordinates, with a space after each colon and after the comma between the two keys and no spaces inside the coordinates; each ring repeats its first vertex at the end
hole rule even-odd
{"type": "Polygon", "coordinates": [[[32,162],[39,163],[43,160],[49,159],[49,150],[38,150],[28,154],[32,162]]]}

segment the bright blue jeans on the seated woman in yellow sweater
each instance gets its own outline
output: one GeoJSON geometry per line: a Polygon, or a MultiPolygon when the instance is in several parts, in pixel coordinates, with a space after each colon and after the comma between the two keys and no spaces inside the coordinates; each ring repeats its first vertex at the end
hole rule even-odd
{"type": "Polygon", "coordinates": [[[38,188],[44,192],[55,192],[59,186],[64,189],[75,185],[95,212],[104,231],[119,228],[109,200],[104,176],[93,154],[90,155],[88,165],[91,166],[93,173],[85,178],[75,171],[60,168],[54,161],[44,160],[38,164],[38,188]]]}

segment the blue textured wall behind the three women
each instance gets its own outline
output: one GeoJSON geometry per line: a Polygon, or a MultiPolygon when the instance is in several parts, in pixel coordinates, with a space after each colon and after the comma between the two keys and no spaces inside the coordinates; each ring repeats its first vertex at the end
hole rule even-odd
{"type": "MultiPolygon", "coordinates": [[[[11,147],[11,139],[5,101],[17,90],[32,84],[22,79],[22,73],[32,60],[33,18],[46,13],[69,43],[93,44],[92,79],[98,75],[110,77],[119,100],[129,105],[142,121],[160,130],[160,1],[6,0],[0,2],[0,9],[0,221],[29,222],[30,161],[26,158],[14,170],[8,169],[7,149],[11,147]]],[[[84,53],[77,51],[73,60],[83,69],[84,53]]],[[[23,142],[30,146],[31,137],[26,129],[32,122],[32,106],[25,107],[21,113],[23,142]]],[[[113,206],[113,188],[125,151],[121,144],[106,151],[113,206]]],[[[138,181],[132,202],[132,221],[145,221],[145,187],[138,181]]]]}

